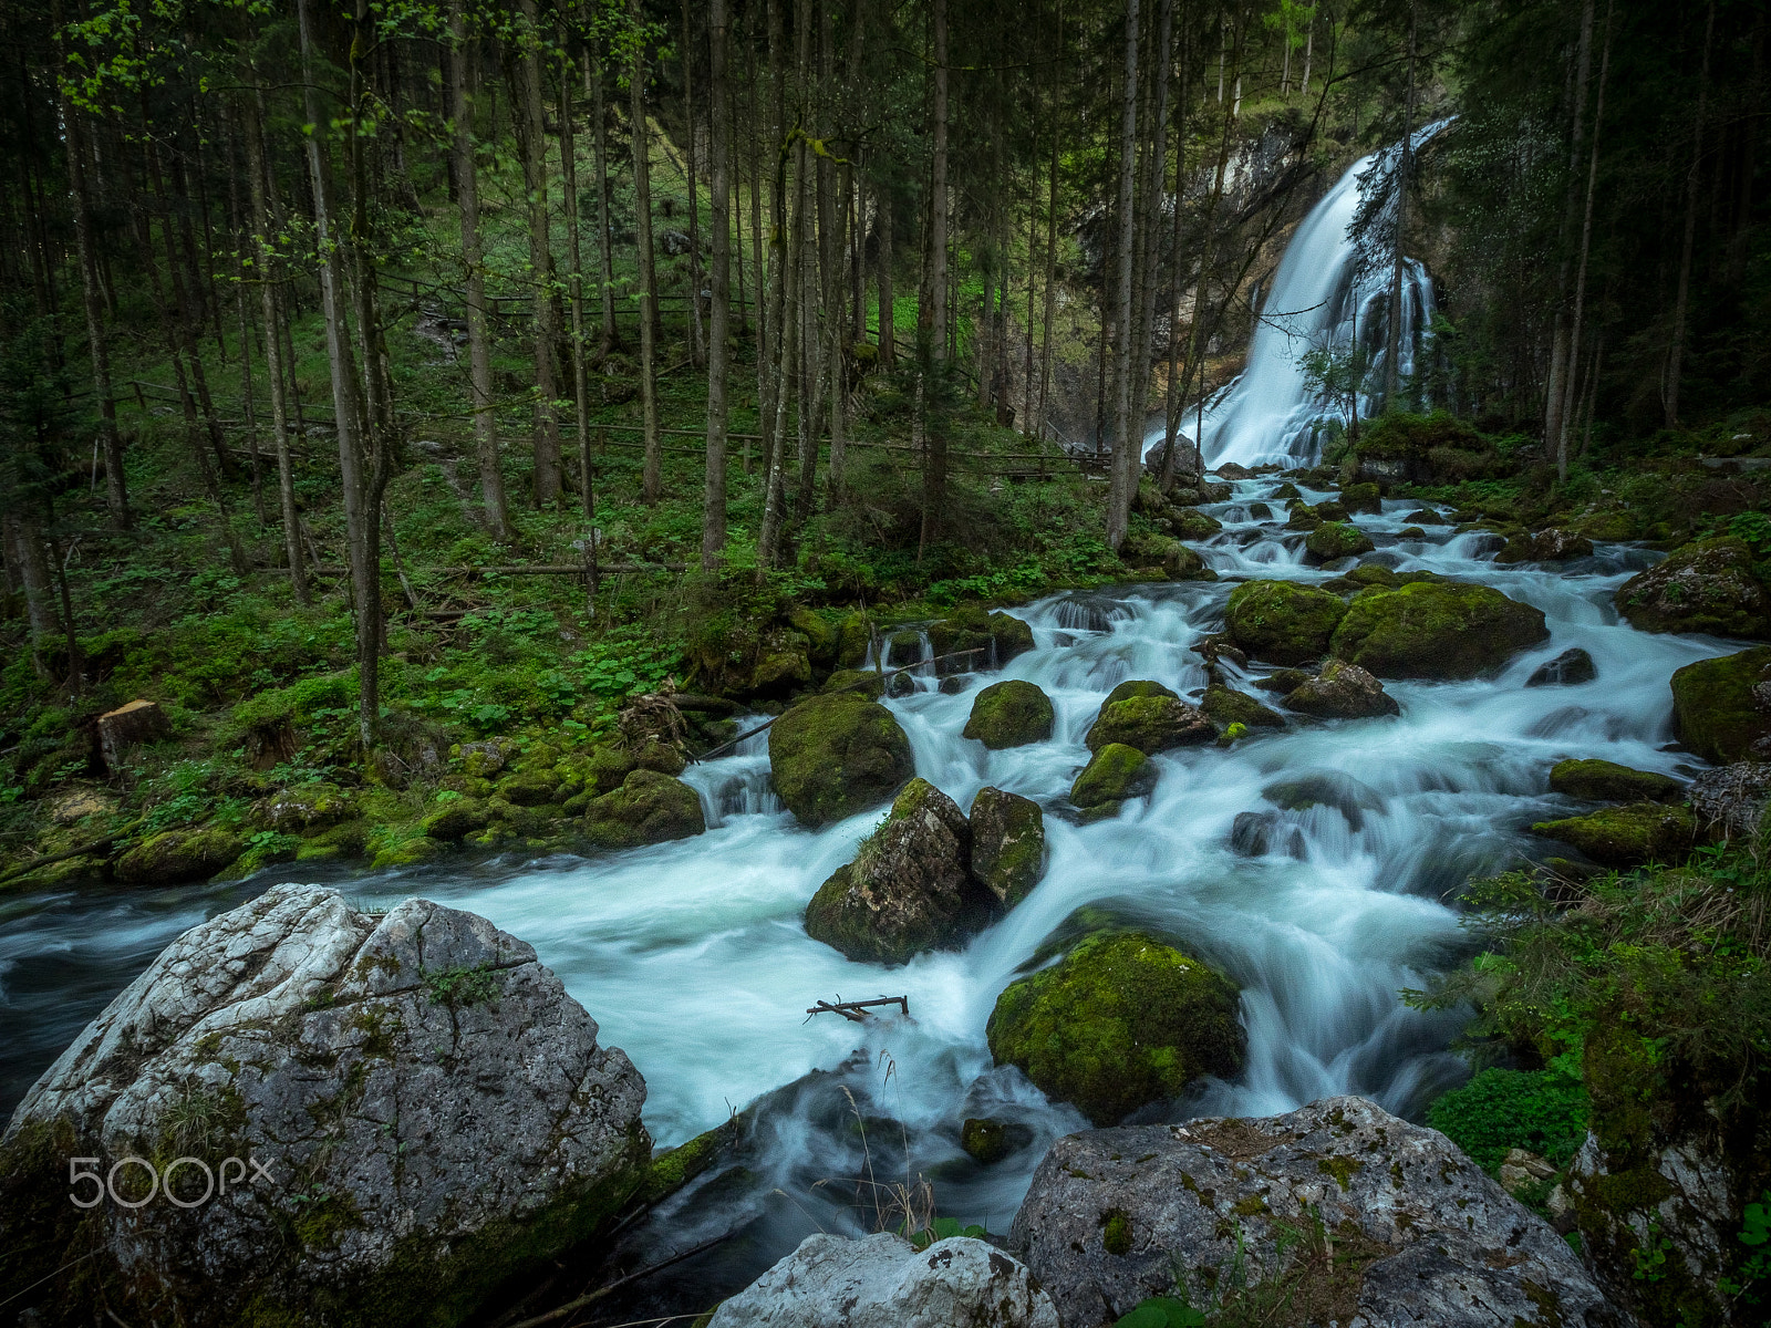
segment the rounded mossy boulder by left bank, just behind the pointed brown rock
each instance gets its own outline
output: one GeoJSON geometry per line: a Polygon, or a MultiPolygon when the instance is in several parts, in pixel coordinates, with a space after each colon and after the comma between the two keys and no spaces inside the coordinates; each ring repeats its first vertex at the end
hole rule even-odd
{"type": "Polygon", "coordinates": [[[788,811],[818,827],[893,797],[916,774],[916,760],[891,710],[859,692],[832,692],[770,724],[769,772],[788,811]]]}

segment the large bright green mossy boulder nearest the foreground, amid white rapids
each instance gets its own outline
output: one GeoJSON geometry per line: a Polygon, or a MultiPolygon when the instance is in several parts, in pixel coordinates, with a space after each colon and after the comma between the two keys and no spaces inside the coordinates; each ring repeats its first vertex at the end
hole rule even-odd
{"type": "Polygon", "coordinates": [[[997,1064],[1098,1126],[1241,1068],[1238,988],[1142,933],[1089,937],[1009,983],[985,1025],[997,1064]]]}

